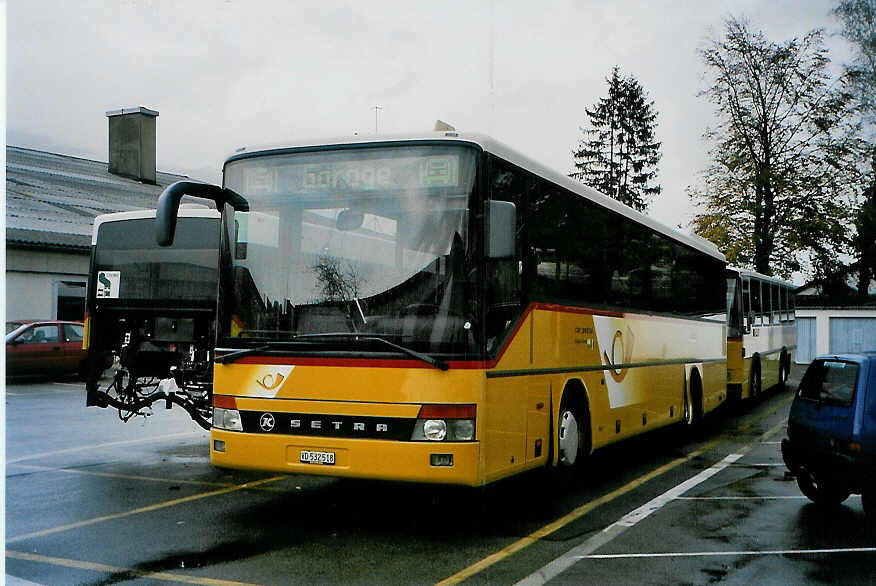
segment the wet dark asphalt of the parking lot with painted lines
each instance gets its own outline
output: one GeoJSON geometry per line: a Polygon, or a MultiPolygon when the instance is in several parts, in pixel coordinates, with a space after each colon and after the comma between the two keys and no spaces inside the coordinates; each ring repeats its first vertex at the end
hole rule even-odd
{"type": "Polygon", "coordinates": [[[820,508],[786,474],[791,395],[475,494],[217,470],[182,411],[122,423],[75,381],[13,383],[7,583],[874,583],[860,498],[820,508]]]}

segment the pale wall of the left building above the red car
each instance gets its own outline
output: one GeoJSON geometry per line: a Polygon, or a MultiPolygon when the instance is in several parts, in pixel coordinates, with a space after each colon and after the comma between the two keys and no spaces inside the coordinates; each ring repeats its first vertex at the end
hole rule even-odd
{"type": "Polygon", "coordinates": [[[6,249],[6,319],[55,319],[58,288],[85,283],[88,253],[6,249]]]}

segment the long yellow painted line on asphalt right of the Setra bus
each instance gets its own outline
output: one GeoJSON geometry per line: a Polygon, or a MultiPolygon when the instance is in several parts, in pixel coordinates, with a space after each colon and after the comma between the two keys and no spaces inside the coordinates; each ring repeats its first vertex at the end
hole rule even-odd
{"type": "MultiPolygon", "coordinates": [[[[793,398],[794,397],[791,396],[788,399],[784,400],[782,403],[779,404],[779,407],[783,407],[784,405],[790,403],[793,398]]],[[[753,427],[755,424],[759,423],[760,421],[762,421],[762,420],[766,419],[767,417],[769,417],[770,415],[772,415],[773,412],[774,411],[770,411],[768,413],[761,415],[760,417],[758,417],[757,419],[754,419],[750,423],[737,428],[736,430],[734,430],[734,432],[739,433],[739,432],[742,432],[742,431],[749,429],[750,427],[753,427]]],[[[783,425],[783,424],[779,424],[779,426],[781,426],[781,425],[783,425]]],[[[779,426],[776,426],[776,427],[779,427],[779,426]]],[[[773,429],[776,429],[776,428],[773,428],[773,429]]],[[[772,432],[772,430],[770,430],[770,431],[772,432]]],[[[728,441],[729,439],[731,439],[731,437],[732,436],[730,436],[729,434],[724,434],[722,436],[719,436],[719,437],[713,439],[712,441],[710,441],[709,443],[707,443],[706,445],[704,445],[703,447],[701,447],[700,449],[691,452],[687,456],[677,458],[671,462],[668,462],[668,463],[664,464],[663,466],[660,466],[659,468],[656,468],[656,469],[652,470],[651,472],[647,472],[646,474],[643,474],[642,476],[636,478],[635,480],[630,481],[629,483],[625,484],[624,486],[622,486],[620,488],[617,488],[617,489],[615,489],[607,494],[602,495],[601,497],[599,497],[595,500],[589,501],[589,502],[581,505],[580,507],[574,509],[572,512],[568,513],[567,515],[560,517],[556,521],[553,521],[552,523],[548,523],[547,525],[545,525],[541,529],[538,529],[537,531],[530,533],[526,537],[518,539],[514,543],[508,545],[507,547],[500,549],[496,553],[493,553],[493,554],[483,558],[482,560],[468,566],[467,568],[460,570],[456,574],[453,574],[452,576],[445,578],[444,580],[441,580],[440,582],[437,583],[436,586],[450,586],[453,584],[459,584],[460,582],[467,580],[468,578],[471,578],[475,574],[478,574],[478,573],[482,572],[483,570],[489,568],[490,566],[501,562],[505,558],[510,557],[511,555],[517,553],[521,549],[524,549],[524,548],[532,545],[533,543],[539,541],[540,539],[547,537],[548,535],[550,535],[554,531],[556,531],[562,527],[565,527],[566,525],[568,525],[572,521],[575,521],[576,519],[583,517],[584,515],[586,515],[587,513],[592,511],[593,509],[595,509],[596,507],[603,505],[607,502],[610,502],[610,501],[618,498],[619,496],[623,496],[624,494],[626,494],[626,493],[640,487],[641,485],[645,484],[649,480],[653,480],[654,478],[660,476],[661,474],[664,474],[664,473],[668,472],[669,470],[672,470],[673,468],[676,468],[677,466],[684,464],[685,462],[689,462],[690,460],[705,453],[706,451],[711,450],[712,448],[714,448],[718,444],[721,444],[721,443],[728,441]]]]}

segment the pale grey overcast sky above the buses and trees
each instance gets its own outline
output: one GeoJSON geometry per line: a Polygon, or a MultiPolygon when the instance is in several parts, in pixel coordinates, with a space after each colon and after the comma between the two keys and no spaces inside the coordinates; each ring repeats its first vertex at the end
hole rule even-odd
{"type": "MultiPolygon", "coordinates": [[[[658,111],[663,194],[692,211],[713,109],[697,55],[729,15],[774,41],[836,29],[830,0],[10,0],[7,143],[105,161],[105,112],[160,112],[158,168],[219,181],[243,145],[484,132],[563,173],[614,65],[658,111]]],[[[845,44],[828,37],[838,64],[845,44]]]]}

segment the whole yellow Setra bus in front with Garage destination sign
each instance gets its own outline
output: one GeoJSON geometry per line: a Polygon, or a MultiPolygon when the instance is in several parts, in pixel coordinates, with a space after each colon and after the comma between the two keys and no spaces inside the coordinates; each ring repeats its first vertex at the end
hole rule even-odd
{"type": "Polygon", "coordinates": [[[223,242],[211,462],[481,486],[696,424],[726,398],[726,264],[457,132],[257,150],[223,242]]]}

